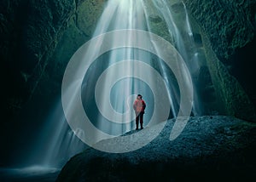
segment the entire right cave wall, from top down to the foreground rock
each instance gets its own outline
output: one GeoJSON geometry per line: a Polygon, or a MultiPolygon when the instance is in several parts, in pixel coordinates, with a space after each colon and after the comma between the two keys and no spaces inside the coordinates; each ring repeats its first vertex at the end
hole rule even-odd
{"type": "Polygon", "coordinates": [[[184,3],[201,27],[207,65],[224,113],[256,121],[252,59],[256,2],[184,0],[184,3]]]}

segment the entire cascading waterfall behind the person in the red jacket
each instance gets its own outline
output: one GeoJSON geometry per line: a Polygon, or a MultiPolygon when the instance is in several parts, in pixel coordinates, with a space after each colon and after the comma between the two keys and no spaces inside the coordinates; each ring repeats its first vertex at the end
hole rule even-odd
{"type": "MultiPolygon", "coordinates": [[[[191,63],[190,59],[190,54],[195,54],[193,51],[196,48],[193,43],[188,14],[183,3],[185,19],[181,31],[178,29],[180,26],[177,27],[177,20],[172,15],[170,4],[164,0],[152,2],[108,0],[93,35],[98,38],[92,39],[94,43],[91,41],[85,47],[80,48],[78,54],[74,54],[69,65],[73,64],[73,60],[80,59],[81,61],[74,66],[77,70],[69,71],[72,76],[67,77],[70,75],[66,73],[63,78],[62,105],[65,116],[60,111],[62,108],[61,101],[59,101],[55,115],[49,117],[48,124],[42,131],[37,150],[32,155],[35,156],[32,161],[41,165],[61,168],[70,156],[86,147],[79,139],[85,138],[84,143],[93,145],[101,139],[108,139],[133,130],[135,114],[132,111],[132,103],[137,94],[142,94],[147,103],[144,117],[145,126],[177,117],[179,102],[182,99],[181,92],[178,90],[178,80],[175,79],[177,73],[173,73],[173,70],[168,67],[168,63],[158,56],[164,54],[165,50],[154,43],[154,36],[150,39],[150,36],[147,38],[141,35],[142,31],[151,30],[146,9],[149,3],[154,5],[155,12],[166,22],[170,32],[169,37],[174,40],[174,46],[182,55],[189,71],[193,74],[193,71],[198,69],[195,61],[191,63]],[[121,31],[122,34],[119,34],[118,30],[140,31],[132,31],[132,33],[131,31],[121,31]],[[115,36],[107,34],[107,36],[101,37],[102,34],[109,31],[117,32],[113,34],[115,36]],[[120,39],[124,45],[117,46],[120,39]],[[132,46],[142,43],[145,48],[132,46]],[[106,50],[102,51],[104,48],[106,50]],[[84,50],[84,53],[81,50],[84,50]],[[88,63],[88,60],[92,61],[88,63]],[[70,83],[70,80],[74,82],[68,85],[67,82],[70,83]],[[77,111],[82,114],[76,115],[77,111]],[[67,126],[66,119],[67,122],[72,120],[77,125],[84,120],[90,123],[82,123],[83,127],[74,128],[68,122],[73,129],[71,130],[67,126]],[[96,133],[91,132],[90,128],[96,128],[96,133]],[[47,139],[45,139],[46,134],[49,136],[47,139]],[[90,139],[86,138],[88,135],[90,135],[90,139]],[[45,140],[47,142],[42,145],[42,141],[45,140]]],[[[175,51],[173,53],[176,57],[174,56],[173,59],[182,59],[176,55],[175,51]]],[[[185,82],[183,84],[190,82],[189,72],[183,69],[184,65],[175,64],[177,70],[180,71],[179,77],[182,77],[185,82]]],[[[196,94],[194,94],[194,100],[191,101],[194,113],[200,113],[200,101],[197,100],[196,94]]]]}

